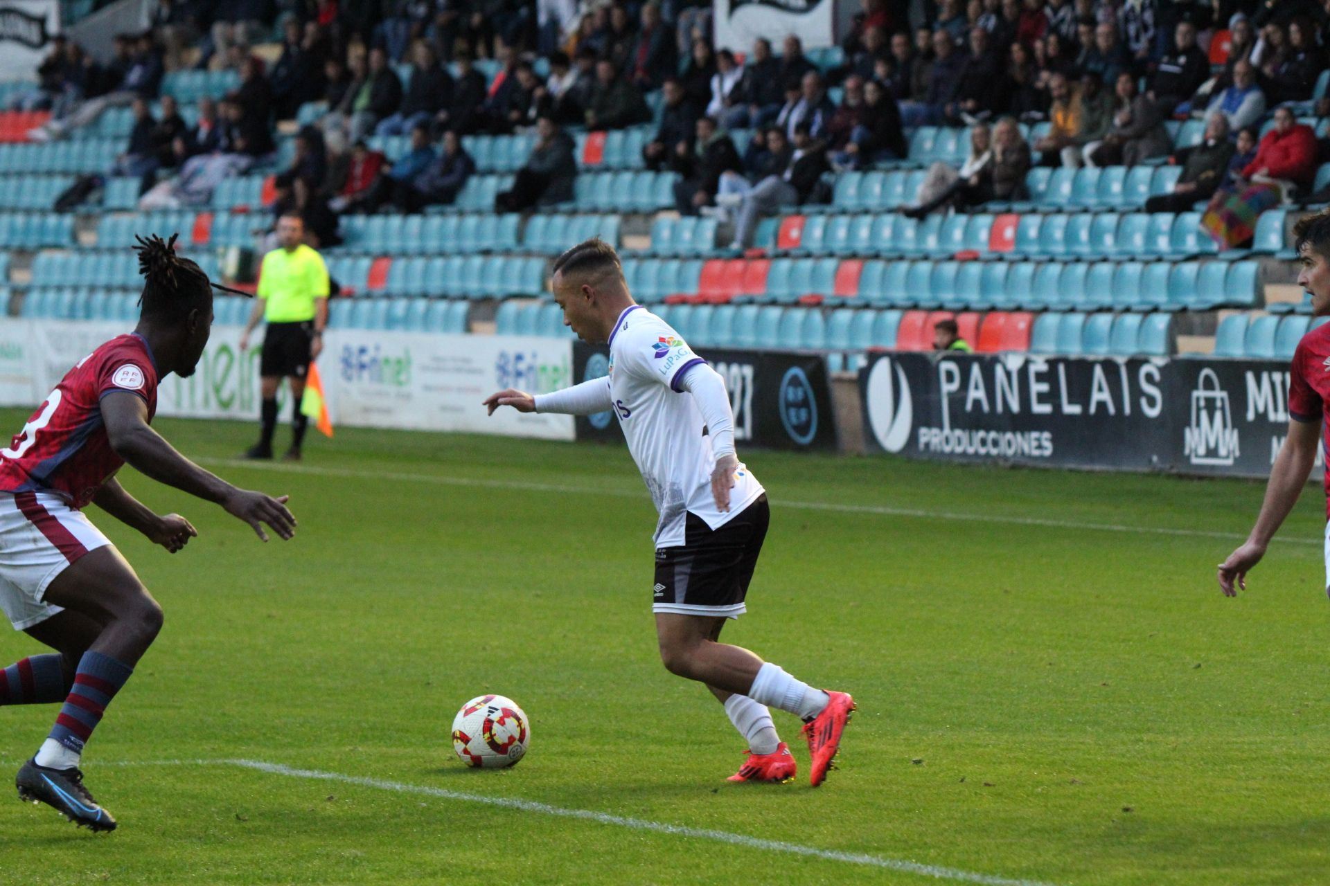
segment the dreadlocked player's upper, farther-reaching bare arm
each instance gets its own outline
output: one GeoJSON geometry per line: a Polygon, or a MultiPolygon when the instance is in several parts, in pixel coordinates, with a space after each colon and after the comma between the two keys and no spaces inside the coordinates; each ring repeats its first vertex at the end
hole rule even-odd
{"type": "Polygon", "coordinates": [[[101,399],[101,420],[116,454],[148,477],[221,505],[231,517],[249,523],[265,542],[265,525],[281,538],[295,534],[295,518],[286,509],[286,495],[273,498],[237,489],[185,458],[148,424],[148,404],[138,395],[128,391],[108,393],[101,399]]]}

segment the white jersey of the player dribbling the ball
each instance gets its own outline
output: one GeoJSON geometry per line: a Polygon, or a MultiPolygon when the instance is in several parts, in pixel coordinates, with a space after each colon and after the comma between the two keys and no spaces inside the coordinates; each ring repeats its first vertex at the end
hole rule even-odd
{"type": "Polygon", "coordinates": [[[618,315],[609,336],[609,393],[637,469],[660,511],[656,547],[684,543],[688,513],[712,529],[724,526],[762,494],[742,464],[734,474],[730,510],[712,495],[716,456],[702,413],[678,383],[693,365],[706,363],[668,323],[641,306],[618,315]]]}

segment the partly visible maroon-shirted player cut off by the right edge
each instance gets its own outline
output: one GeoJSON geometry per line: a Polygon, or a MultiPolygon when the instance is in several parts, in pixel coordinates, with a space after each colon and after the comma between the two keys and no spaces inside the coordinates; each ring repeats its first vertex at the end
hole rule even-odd
{"type": "MultiPolygon", "coordinates": [[[[1299,221],[1293,235],[1302,271],[1298,286],[1311,294],[1311,312],[1330,315],[1330,210],[1299,221]]],[[[1265,487],[1265,501],[1252,534],[1229,558],[1220,563],[1220,588],[1228,596],[1246,590],[1246,574],[1252,571],[1270,545],[1274,533],[1307,485],[1307,477],[1317,464],[1317,444],[1325,437],[1330,452],[1330,426],[1325,417],[1330,406],[1330,323],[1311,329],[1298,349],[1293,352],[1289,372],[1289,436],[1279,446],[1279,454],[1270,468],[1270,482],[1265,487]]],[[[1330,497],[1330,472],[1326,473],[1326,493],[1330,497]]],[[[1330,507],[1330,498],[1327,498],[1330,507]]],[[[1330,522],[1326,523],[1326,591],[1330,592],[1330,522]]]]}

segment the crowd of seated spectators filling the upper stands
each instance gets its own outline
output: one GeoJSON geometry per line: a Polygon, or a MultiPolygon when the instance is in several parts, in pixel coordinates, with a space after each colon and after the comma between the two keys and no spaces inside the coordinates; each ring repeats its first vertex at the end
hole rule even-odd
{"type": "Polygon", "coordinates": [[[52,112],[35,139],[133,106],[106,171],[138,177],[144,207],[206,201],[301,114],[278,203],[307,214],[323,242],[339,213],[451,202],[476,173],[463,135],[535,135],[497,210],[569,201],[576,128],[653,125],[646,169],[678,173],[678,211],[733,222],[738,247],[762,215],[826,201],[826,173],[908,161],[908,132],[924,125],[970,128],[971,150],[959,169],[930,170],[914,215],[1021,199],[1032,165],[1178,163],[1174,191],[1149,209],[1201,203],[1206,231],[1236,246],[1265,209],[1318,197],[1330,142],[1302,120],[1330,114],[1330,98],[1314,97],[1330,66],[1330,0],[924,5],[919,23],[911,4],[862,0],[843,62],[819,69],[793,35],[779,53],[766,40],[745,56],[716,50],[709,8],[680,0],[162,0],[153,29],[118,37],[106,65],[57,39],[16,105],[52,112]],[[275,61],[255,43],[278,43],[275,61]],[[152,105],[184,66],[235,72],[190,124],[173,102],[152,105]],[[303,117],[310,102],[322,102],[317,118],[303,117]],[[1202,143],[1174,151],[1177,120],[1205,121],[1202,143]],[[1047,134],[1027,141],[1036,122],[1047,134]],[[739,129],[753,130],[742,151],[739,129]],[[410,145],[386,157],[374,137],[410,145]]]}

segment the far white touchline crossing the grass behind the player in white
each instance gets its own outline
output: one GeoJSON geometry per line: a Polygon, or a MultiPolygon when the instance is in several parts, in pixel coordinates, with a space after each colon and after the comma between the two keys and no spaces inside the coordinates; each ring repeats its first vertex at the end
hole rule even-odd
{"type": "MultiPolygon", "coordinates": [[[[293,474],[310,474],[314,477],[342,477],[346,480],[391,480],[408,484],[434,484],[438,486],[471,486],[477,489],[512,489],[529,493],[563,493],[583,495],[610,495],[614,498],[641,498],[642,494],[629,489],[602,489],[596,486],[567,486],[561,484],[532,484],[516,480],[476,480],[468,477],[440,477],[436,474],[407,474],[378,470],[350,470],[346,468],[317,468],[313,465],[277,465],[255,461],[238,461],[234,458],[197,458],[206,465],[225,465],[227,468],[253,468],[257,470],[273,470],[293,474]]],[[[891,507],[887,505],[838,505],[833,502],[811,502],[779,498],[773,502],[777,507],[797,507],[803,510],[827,510],[843,514],[875,514],[879,517],[910,517],[916,519],[954,519],[974,523],[1008,523],[1012,526],[1044,526],[1049,529],[1084,529],[1100,533],[1137,533],[1145,535],[1181,535],[1185,538],[1216,538],[1225,541],[1242,541],[1246,535],[1241,533],[1222,533],[1205,529],[1172,529],[1164,526],[1127,526],[1123,523],[1089,523],[1080,521],[1048,519],[1041,517],[1015,517],[1004,514],[962,514],[944,510],[927,510],[922,507],[891,507]]],[[[1322,538],[1298,538],[1281,535],[1277,542],[1290,545],[1325,543],[1322,538]]]]}

